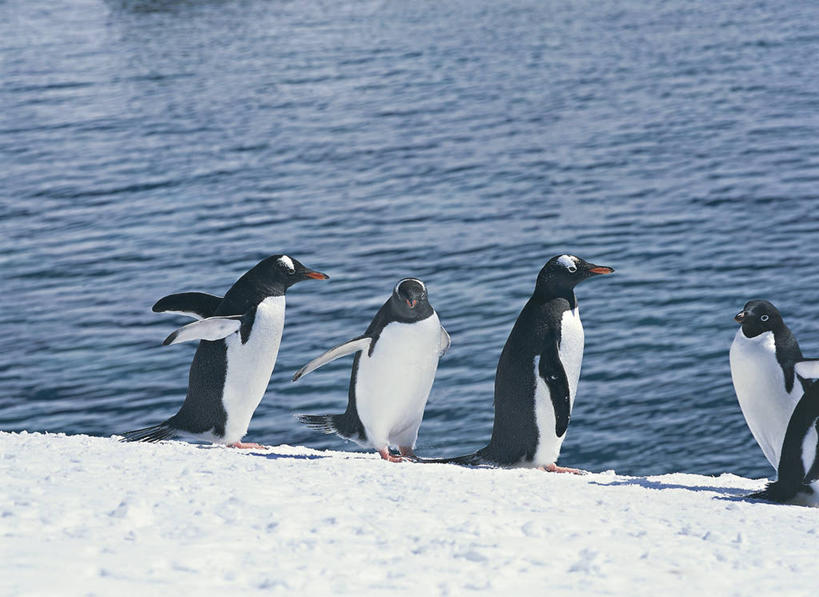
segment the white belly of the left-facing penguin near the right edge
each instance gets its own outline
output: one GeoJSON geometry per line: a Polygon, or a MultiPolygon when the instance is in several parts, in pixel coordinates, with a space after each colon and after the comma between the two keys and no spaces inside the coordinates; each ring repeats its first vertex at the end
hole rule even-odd
{"type": "Polygon", "coordinates": [[[765,458],[778,468],[785,431],[802,386],[794,379],[790,394],[785,390],[785,374],[776,360],[773,332],[748,338],[740,328],[731,344],[729,359],[745,421],[765,458]]]}

